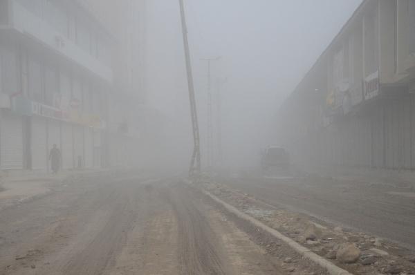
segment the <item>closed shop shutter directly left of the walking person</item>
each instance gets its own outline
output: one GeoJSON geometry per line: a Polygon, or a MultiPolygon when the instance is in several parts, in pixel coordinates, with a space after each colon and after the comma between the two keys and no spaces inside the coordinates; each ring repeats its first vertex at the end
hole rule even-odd
{"type": "Polygon", "coordinates": [[[32,168],[46,169],[46,119],[44,117],[32,117],[31,126],[32,168]]]}

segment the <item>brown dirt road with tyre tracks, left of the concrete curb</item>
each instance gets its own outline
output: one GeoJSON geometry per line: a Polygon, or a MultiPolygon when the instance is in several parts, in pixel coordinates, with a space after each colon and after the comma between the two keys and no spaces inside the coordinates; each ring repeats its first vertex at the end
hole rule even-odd
{"type": "Polygon", "coordinates": [[[206,200],[176,178],[57,185],[0,211],[0,274],[308,274],[206,200]]]}

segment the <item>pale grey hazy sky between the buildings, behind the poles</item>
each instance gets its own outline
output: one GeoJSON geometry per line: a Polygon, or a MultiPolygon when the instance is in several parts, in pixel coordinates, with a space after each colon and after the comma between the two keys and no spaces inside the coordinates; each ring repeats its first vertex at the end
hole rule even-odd
{"type": "MultiPolygon", "coordinates": [[[[212,81],[228,78],[221,91],[225,159],[248,163],[273,143],[268,134],[279,104],[361,2],[185,0],[202,138],[207,67],[201,58],[222,57],[212,66],[212,81]]],[[[185,152],[191,132],[178,1],[148,1],[147,15],[149,104],[165,113],[185,152]]]]}

